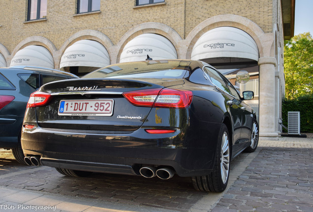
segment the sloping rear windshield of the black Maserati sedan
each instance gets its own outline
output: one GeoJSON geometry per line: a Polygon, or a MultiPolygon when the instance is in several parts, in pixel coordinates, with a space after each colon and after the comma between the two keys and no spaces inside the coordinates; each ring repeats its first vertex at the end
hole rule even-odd
{"type": "Polygon", "coordinates": [[[190,62],[148,60],[126,62],[98,69],[82,78],[164,78],[181,79],[185,76],[190,62]]]}

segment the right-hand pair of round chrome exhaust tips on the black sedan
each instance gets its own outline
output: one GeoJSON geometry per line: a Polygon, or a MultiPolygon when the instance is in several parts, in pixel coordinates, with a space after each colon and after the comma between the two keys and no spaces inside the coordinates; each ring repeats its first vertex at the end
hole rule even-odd
{"type": "Polygon", "coordinates": [[[145,178],[153,178],[157,176],[162,180],[168,180],[175,174],[175,171],[172,168],[156,169],[156,167],[153,166],[142,167],[139,172],[145,178]]]}

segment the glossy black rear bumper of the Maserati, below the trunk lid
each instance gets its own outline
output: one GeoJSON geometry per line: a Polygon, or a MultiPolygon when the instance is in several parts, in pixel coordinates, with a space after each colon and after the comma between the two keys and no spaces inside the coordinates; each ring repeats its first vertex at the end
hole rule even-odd
{"type": "MultiPolygon", "coordinates": [[[[203,123],[203,128],[219,132],[216,123],[203,123]]],[[[23,129],[21,140],[24,154],[40,156],[41,163],[51,167],[140,175],[142,166],[170,166],[179,176],[190,177],[209,174],[214,165],[216,135],[208,136],[201,128],[199,132],[188,138],[180,130],[149,134],[140,128],[109,134],[36,127],[23,129]]]]}

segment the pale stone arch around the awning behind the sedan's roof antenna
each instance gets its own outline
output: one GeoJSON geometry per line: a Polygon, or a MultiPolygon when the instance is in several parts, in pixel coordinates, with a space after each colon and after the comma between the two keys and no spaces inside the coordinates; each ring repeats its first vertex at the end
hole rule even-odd
{"type": "Polygon", "coordinates": [[[117,44],[118,47],[118,53],[116,57],[116,61],[120,60],[121,53],[125,47],[125,45],[132,40],[133,38],[137,37],[138,35],[145,34],[145,33],[154,33],[159,34],[167,38],[171,43],[174,45],[178,58],[181,58],[182,48],[180,47],[180,42],[182,40],[182,37],[171,27],[156,23],[156,22],[147,22],[140,25],[137,25],[131,29],[129,29],[123,37],[120,39],[120,41],[117,44]]]}

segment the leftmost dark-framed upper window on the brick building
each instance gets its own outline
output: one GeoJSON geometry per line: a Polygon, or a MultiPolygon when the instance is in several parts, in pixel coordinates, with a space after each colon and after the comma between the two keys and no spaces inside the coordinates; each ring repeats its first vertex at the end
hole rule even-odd
{"type": "Polygon", "coordinates": [[[47,16],[47,0],[28,0],[28,21],[47,16]]]}

